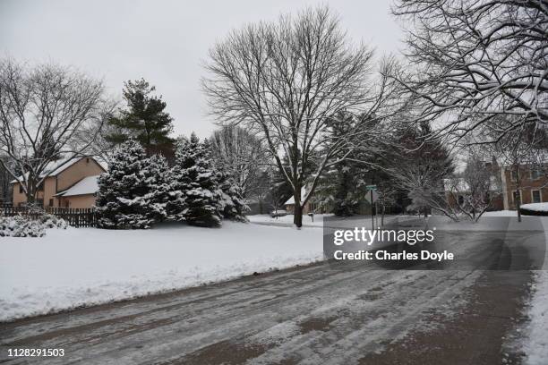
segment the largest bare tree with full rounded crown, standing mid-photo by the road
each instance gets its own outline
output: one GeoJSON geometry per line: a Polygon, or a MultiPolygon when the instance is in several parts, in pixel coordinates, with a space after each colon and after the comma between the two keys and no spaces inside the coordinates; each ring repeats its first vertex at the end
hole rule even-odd
{"type": "Polygon", "coordinates": [[[368,78],[372,51],[351,46],[338,19],[320,7],[232,31],[210,49],[205,67],[209,76],[203,89],[211,113],[220,123],[243,124],[265,141],[291,185],[294,223],[301,226],[304,204],[321,173],[346,157],[349,137],[365,134],[361,122],[381,115],[385,106],[387,79],[375,85],[368,78]],[[328,119],[342,111],[363,117],[333,136],[328,119]],[[342,150],[346,153],[336,157],[342,150]]]}

